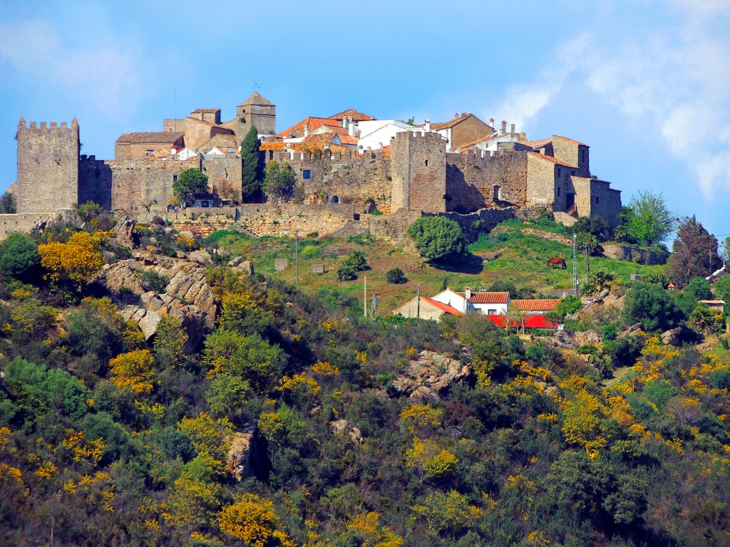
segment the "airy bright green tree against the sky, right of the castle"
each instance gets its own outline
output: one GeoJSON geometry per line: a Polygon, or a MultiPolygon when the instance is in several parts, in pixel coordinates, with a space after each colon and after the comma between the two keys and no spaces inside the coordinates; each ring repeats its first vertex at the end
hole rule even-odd
{"type": "Polygon", "coordinates": [[[621,217],[626,240],[641,245],[660,244],[677,226],[676,214],[667,209],[664,198],[653,190],[639,190],[631,196],[621,217]]]}

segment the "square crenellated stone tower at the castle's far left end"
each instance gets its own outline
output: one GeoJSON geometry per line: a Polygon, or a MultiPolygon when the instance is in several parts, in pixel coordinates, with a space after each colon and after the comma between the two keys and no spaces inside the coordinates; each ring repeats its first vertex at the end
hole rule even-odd
{"type": "Polygon", "coordinates": [[[79,124],[18,123],[18,213],[70,209],[78,203],[79,124]]]}

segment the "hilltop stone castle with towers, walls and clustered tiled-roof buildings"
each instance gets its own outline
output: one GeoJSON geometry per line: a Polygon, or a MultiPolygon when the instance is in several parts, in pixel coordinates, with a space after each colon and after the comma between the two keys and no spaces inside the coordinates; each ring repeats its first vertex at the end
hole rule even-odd
{"type": "Polygon", "coordinates": [[[174,214],[178,220],[191,212],[224,213],[243,225],[266,225],[257,220],[264,214],[278,233],[286,233],[284,224],[288,231],[314,227],[310,231],[320,235],[353,223],[350,228],[362,230],[361,213],[373,207],[401,220],[447,214],[463,225],[475,214],[502,220],[505,212],[535,209],[547,209],[562,222],[598,215],[618,224],[621,193],[591,176],[587,145],[561,136],[529,141],[514,125],[507,131],[502,122],[500,131],[489,121],[462,114],[415,126],[347,110],[308,117],[277,134],[276,107],[253,93],[233,120],[221,123],[220,109],[196,109],[183,119],[164,120],[162,131],[123,134],[115,158],[97,160],[80,155],[75,118],[70,126],[28,125],[21,118],[18,213],[0,215],[0,236],[86,201],[120,214],[174,214]],[[266,195],[257,196],[255,208],[241,203],[239,144],[253,126],[264,160],[289,163],[296,174],[295,193],[286,203],[271,203],[266,195]],[[184,213],[172,212],[173,182],[190,167],[207,174],[210,194],[184,213]],[[318,225],[324,217],[339,220],[318,225]]]}

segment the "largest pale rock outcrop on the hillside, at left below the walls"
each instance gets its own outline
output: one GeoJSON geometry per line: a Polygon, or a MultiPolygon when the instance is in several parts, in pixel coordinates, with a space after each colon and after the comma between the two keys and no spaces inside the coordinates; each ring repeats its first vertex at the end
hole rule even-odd
{"type": "Polygon", "coordinates": [[[157,249],[137,252],[134,258],[120,260],[101,271],[98,281],[112,292],[112,295],[128,301],[128,295],[137,295],[137,305],[129,305],[121,311],[125,319],[132,319],[139,325],[146,338],[157,330],[164,315],[180,319],[188,333],[186,351],[192,351],[200,344],[203,333],[215,326],[218,308],[210,284],[205,279],[204,267],[180,258],[157,254],[157,249]],[[163,294],[147,292],[140,274],[155,271],[169,279],[163,294]]]}

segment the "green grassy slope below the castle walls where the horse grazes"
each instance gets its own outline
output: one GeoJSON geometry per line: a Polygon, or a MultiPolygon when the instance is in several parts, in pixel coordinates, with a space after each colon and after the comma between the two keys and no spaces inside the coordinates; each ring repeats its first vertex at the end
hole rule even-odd
{"type": "MultiPolygon", "coordinates": [[[[534,227],[534,225],[532,225],[534,227]]],[[[287,282],[294,282],[293,238],[250,239],[245,236],[226,235],[217,240],[220,247],[253,260],[256,271],[278,276],[287,282]],[[274,258],[288,258],[284,271],[274,272],[274,258]]],[[[447,278],[449,287],[463,290],[465,285],[473,289],[487,288],[493,282],[507,280],[517,287],[531,287],[538,294],[561,296],[569,293],[572,286],[572,247],[556,241],[520,232],[520,223],[508,222],[500,225],[493,235],[483,235],[469,246],[474,255],[499,253],[499,257],[483,265],[472,255],[471,260],[450,265],[432,265],[393,247],[385,241],[367,239],[323,240],[300,238],[299,240],[299,286],[304,290],[318,290],[336,287],[350,298],[363,298],[363,279],[367,276],[368,306],[372,292],[379,293],[378,314],[385,314],[410,300],[416,294],[416,284],[421,284],[421,294],[431,296],[439,292],[447,278]],[[337,281],[337,268],[348,252],[361,249],[367,255],[369,271],[360,272],[358,279],[351,282],[337,281]],[[546,265],[550,257],[564,257],[566,270],[552,269],[546,265]],[[323,263],[326,274],[311,273],[312,264],[323,263]],[[398,266],[409,282],[392,285],[385,282],[385,272],[398,266]],[[380,293],[383,293],[380,295],[380,293]]],[[[663,271],[664,266],[645,266],[602,257],[590,257],[591,270],[606,268],[616,274],[619,282],[628,282],[629,274],[649,274],[663,271]]],[[[585,256],[578,255],[578,279],[585,282],[585,256]]]]}

